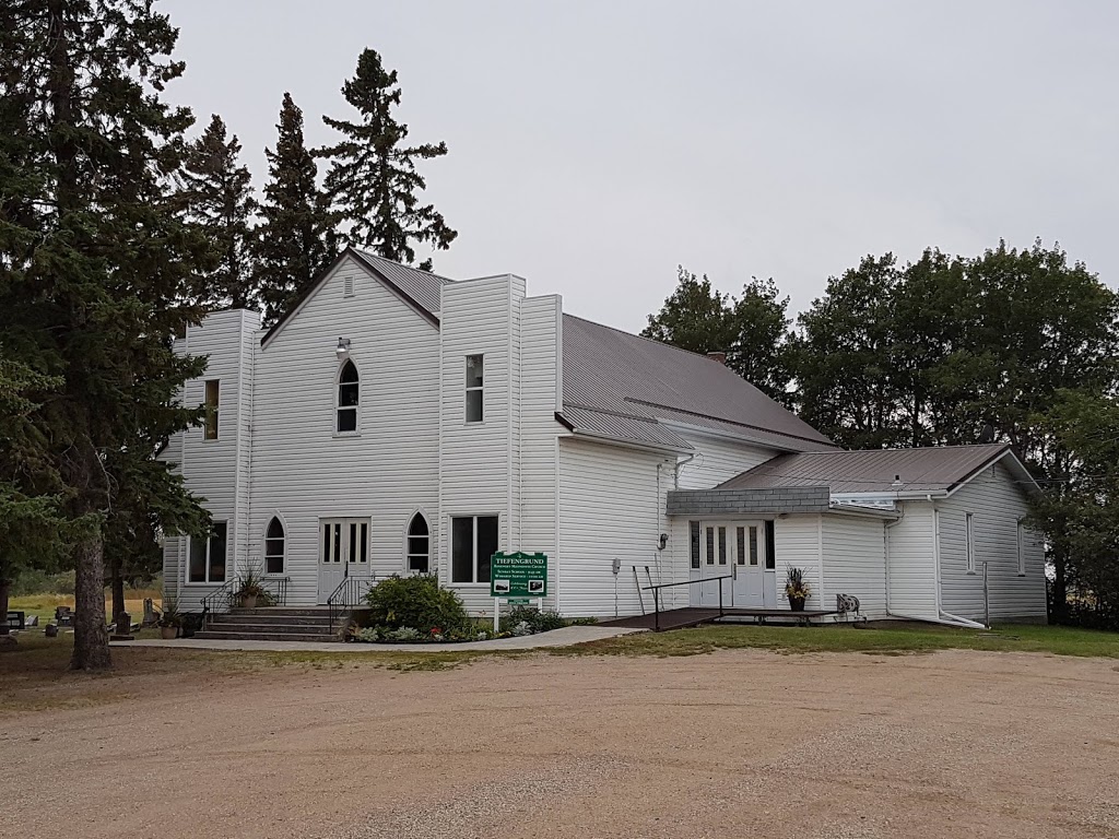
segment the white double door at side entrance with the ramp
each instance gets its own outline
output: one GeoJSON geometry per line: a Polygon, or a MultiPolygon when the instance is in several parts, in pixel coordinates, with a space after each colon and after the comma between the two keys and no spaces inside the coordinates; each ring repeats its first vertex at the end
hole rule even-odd
{"type": "Polygon", "coordinates": [[[699,534],[699,605],[767,606],[765,524],[704,521],[699,534]]]}

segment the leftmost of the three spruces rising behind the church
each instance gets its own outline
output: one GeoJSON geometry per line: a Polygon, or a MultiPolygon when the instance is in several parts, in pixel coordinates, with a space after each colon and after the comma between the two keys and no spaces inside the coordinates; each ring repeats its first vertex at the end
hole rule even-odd
{"type": "Polygon", "coordinates": [[[217,114],[201,135],[189,143],[179,172],[179,195],[185,218],[195,225],[211,247],[211,265],[192,289],[197,302],[207,308],[245,309],[255,304],[252,281],[253,176],[239,163],[241,142],[227,138],[217,114]]]}

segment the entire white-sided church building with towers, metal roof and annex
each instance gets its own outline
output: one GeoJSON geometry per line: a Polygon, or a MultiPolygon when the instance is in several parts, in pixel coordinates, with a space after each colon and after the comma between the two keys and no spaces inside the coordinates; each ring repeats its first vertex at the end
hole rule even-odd
{"type": "Polygon", "coordinates": [[[177,341],[206,423],[162,458],[206,499],[168,538],[180,607],[263,573],[288,605],[430,572],[489,612],[489,557],[549,557],[547,607],[809,609],[1044,620],[1036,486],[1006,446],[844,452],[717,359],[564,314],[502,274],[451,281],[349,248],[267,331],[245,310],[177,341]],[[711,581],[713,577],[723,577],[711,581]]]}

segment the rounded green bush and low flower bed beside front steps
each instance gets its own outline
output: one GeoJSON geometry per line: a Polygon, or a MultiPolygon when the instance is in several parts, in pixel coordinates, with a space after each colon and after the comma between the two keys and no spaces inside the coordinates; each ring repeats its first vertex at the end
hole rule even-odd
{"type": "Polygon", "coordinates": [[[495,632],[492,622],[472,619],[462,598],[449,588],[440,588],[438,578],[431,574],[383,579],[369,590],[366,602],[369,625],[351,625],[350,641],[461,643],[533,635],[585,622],[567,621],[557,612],[516,606],[501,616],[499,631],[495,632]]]}

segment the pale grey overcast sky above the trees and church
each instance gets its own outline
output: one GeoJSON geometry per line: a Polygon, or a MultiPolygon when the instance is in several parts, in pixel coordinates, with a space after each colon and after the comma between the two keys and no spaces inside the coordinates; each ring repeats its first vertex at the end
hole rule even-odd
{"type": "Polygon", "coordinates": [[[799,311],[868,253],[1060,241],[1115,285],[1119,3],[167,0],[257,187],[284,91],[308,142],[364,47],[399,73],[435,271],[640,330],[676,266],[799,311]]]}

